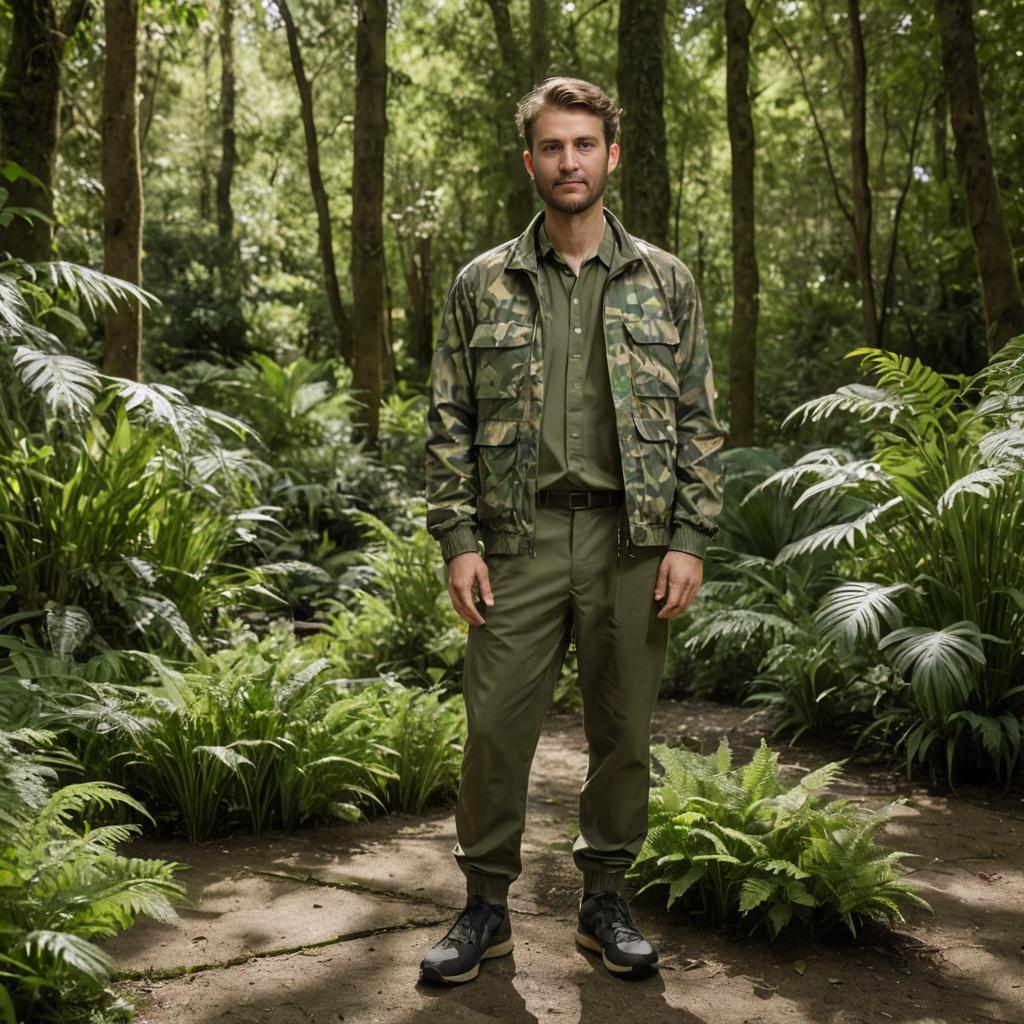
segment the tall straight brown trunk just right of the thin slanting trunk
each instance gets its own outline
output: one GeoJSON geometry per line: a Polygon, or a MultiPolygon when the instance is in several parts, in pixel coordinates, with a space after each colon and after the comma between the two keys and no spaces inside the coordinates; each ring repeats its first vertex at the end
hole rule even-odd
{"type": "Polygon", "coordinates": [[[376,444],[384,354],[384,137],[387,0],[357,0],[352,141],[352,385],[357,421],[376,444]]]}

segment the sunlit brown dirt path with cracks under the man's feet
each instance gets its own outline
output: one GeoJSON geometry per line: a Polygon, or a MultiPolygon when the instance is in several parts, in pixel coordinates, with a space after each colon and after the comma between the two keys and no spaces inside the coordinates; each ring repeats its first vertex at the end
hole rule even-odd
{"type": "MultiPolygon", "coordinates": [[[[737,760],[763,713],[665,700],[655,739],[727,735],[737,760]]],[[[773,744],[776,745],[776,744],[773,744]]],[[[835,755],[782,748],[787,772],[835,755]]],[[[418,981],[423,953],[464,903],[451,809],[358,825],[193,846],[139,842],[132,853],[193,865],[193,904],[172,929],[143,922],[106,948],[147,1024],[1024,1024],[1024,800],[958,798],[899,772],[847,766],[829,791],[877,807],[896,797],[882,841],[919,857],[916,907],[894,939],[823,946],[783,936],[727,939],[667,911],[656,890],[633,899],[662,969],[609,975],[572,940],[579,874],[569,854],[586,744],[579,718],[549,717],[530,782],[523,874],[512,888],[514,952],[476,981],[418,981]]]]}

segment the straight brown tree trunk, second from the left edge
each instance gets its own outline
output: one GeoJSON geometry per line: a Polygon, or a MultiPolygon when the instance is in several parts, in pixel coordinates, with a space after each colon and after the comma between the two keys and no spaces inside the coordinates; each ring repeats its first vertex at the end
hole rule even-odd
{"type": "MultiPolygon", "coordinates": [[[[138,0],[104,0],[103,272],[142,284],[142,161],[138,144],[138,0]]],[[[103,315],[103,373],[139,380],[142,306],[127,299],[103,315]]]]}

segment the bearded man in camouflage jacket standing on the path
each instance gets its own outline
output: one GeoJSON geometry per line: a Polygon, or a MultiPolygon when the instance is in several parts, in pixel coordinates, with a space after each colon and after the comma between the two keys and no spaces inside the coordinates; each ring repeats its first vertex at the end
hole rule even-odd
{"type": "Polygon", "coordinates": [[[544,210],[459,273],[434,353],[427,525],[469,625],[469,732],[454,850],[468,900],[421,965],[432,980],[469,981],[512,950],[529,768],[573,634],[590,750],[575,938],[616,974],[657,963],[622,889],[647,833],[669,620],[696,596],[721,510],[724,435],[692,275],[602,204],[618,115],[578,79],[520,100],[544,210]]]}

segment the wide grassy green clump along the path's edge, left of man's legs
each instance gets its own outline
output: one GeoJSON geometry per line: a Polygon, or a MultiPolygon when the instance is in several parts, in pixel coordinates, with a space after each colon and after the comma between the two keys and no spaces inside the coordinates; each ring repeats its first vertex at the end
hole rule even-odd
{"type": "Polygon", "coordinates": [[[86,770],[119,778],[193,841],[420,809],[453,792],[461,698],[406,694],[334,675],[284,631],[179,672],[154,660],[156,690],[102,687],[66,718],[86,770]]]}

